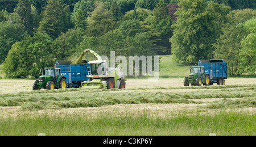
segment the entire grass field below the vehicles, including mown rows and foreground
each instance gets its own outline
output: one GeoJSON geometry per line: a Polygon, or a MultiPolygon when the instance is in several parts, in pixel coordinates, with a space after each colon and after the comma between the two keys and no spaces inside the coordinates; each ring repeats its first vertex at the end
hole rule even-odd
{"type": "Polygon", "coordinates": [[[201,87],[129,79],[125,90],[32,91],[32,80],[0,82],[0,135],[256,135],[255,78],[201,87]]]}

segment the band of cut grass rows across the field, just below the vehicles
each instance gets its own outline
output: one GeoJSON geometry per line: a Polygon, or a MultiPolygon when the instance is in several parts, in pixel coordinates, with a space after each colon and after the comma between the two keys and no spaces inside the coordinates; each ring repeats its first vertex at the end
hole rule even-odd
{"type": "MultiPolygon", "coordinates": [[[[0,94],[0,106],[22,106],[23,110],[43,110],[61,108],[80,108],[80,107],[101,107],[114,104],[142,104],[142,103],[202,103],[195,102],[193,99],[210,98],[245,98],[249,104],[237,104],[236,107],[256,107],[255,106],[255,87],[241,87],[239,89],[225,90],[201,90],[185,92],[125,92],[119,93],[114,90],[41,90],[24,92],[18,94],[0,94]],[[114,93],[112,93],[114,92],[114,93]],[[247,99],[248,98],[248,99],[247,99]],[[254,99],[254,100],[251,100],[254,99]]],[[[240,100],[239,99],[239,100],[240,100]]],[[[232,102],[232,101],[230,101],[232,102]]],[[[242,101],[243,102],[243,101],[242,101]]],[[[221,107],[220,104],[209,106],[212,108],[221,107]]],[[[229,104],[232,105],[232,104],[229,104]]]]}

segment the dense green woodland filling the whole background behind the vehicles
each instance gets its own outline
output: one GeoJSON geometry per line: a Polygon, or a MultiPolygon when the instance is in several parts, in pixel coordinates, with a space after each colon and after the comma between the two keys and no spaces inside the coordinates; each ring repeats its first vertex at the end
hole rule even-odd
{"type": "Polygon", "coordinates": [[[0,64],[9,78],[38,77],[92,49],[223,58],[229,75],[255,73],[255,9],[255,0],[0,0],[0,64]]]}

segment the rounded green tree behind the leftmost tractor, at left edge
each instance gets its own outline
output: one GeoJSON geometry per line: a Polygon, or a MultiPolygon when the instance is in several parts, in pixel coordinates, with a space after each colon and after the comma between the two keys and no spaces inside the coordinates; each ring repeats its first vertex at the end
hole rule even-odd
{"type": "Polygon", "coordinates": [[[40,69],[54,65],[53,40],[47,34],[35,33],[16,42],[8,53],[3,71],[9,78],[39,77],[40,69]]]}

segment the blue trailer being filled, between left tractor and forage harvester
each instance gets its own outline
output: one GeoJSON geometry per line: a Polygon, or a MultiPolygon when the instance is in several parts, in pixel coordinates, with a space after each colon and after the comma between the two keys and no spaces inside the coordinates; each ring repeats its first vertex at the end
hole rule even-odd
{"type": "Polygon", "coordinates": [[[90,74],[90,64],[84,60],[84,64],[71,64],[71,61],[57,61],[56,68],[60,68],[60,73],[67,78],[67,87],[79,87],[81,82],[88,81],[90,74]]]}

